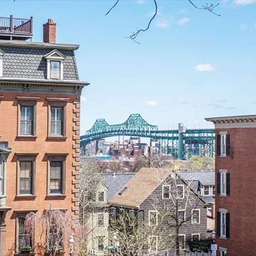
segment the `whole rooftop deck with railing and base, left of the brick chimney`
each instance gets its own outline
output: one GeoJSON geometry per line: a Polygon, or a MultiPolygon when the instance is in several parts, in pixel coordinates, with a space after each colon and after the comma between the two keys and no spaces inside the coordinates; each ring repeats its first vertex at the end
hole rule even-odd
{"type": "Polygon", "coordinates": [[[19,19],[0,17],[0,39],[4,40],[27,40],[31,39],[33,17],[19,19]]]}

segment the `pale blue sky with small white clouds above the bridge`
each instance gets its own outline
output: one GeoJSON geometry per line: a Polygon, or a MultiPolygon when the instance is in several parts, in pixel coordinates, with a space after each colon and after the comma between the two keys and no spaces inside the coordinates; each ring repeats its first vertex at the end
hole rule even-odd
{"type": "MultiPolygon", "coordinates": [[[[210,1],[194,1],[198,6],[210,1]]],[[[42,24],[57,23],[56,42],[79,44],[75,52],[83,90],[81,134],[97,118],[109,124],[140,113],[159,129],[212,127],[205,117],[256,113],[256,1],[220,1],[215,11],[196,10],[188,1],[0,0],[1,16],[33,16],[33,41],[42,24]]],[[[218,3],[212,1],[212,3],[218,3]]]]}

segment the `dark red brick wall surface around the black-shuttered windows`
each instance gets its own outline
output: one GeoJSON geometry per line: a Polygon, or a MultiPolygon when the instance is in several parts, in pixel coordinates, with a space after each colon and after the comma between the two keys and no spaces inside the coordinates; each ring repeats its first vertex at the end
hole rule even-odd
{"type": "Polygon", "coordinates": [[[230,212],[230,238],[216,237],[216,243],[227,248],[227,255],[253,256],[256,252],[256,128],[216,129],[216,135],[220,131],[230,134],[230,156],[216,156],[216,173],[220,169],[230,173],[230,195],[216,195],[215,202],[216,211],[223,208],[230,212]]]}

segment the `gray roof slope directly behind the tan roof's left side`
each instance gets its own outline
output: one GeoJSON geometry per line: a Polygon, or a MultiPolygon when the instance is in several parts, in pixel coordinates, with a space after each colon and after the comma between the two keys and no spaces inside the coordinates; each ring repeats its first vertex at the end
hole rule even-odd
{"type": "Polygon", "coordinates": [[[107,201],[112,198],[115,193],[122,188],[135,174],[110,174],[104,173],[103,183],[108,188],[107,201]]]}

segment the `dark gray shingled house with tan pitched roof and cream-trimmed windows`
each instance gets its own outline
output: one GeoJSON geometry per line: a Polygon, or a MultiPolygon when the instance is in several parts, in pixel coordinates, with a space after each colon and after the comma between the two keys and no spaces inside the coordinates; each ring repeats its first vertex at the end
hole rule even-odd
{"type": "MultiPolygon", "coordinates": [[[[208,204],[191,183],[173,170],[142,168],[108,200],[109,207],[115,208],[110,225],[115,230],[125,222],[125,216],[134,216],[136,227],[142,225],[144,230],[136,236],[144,236],[146,229],[151,230],[144,239],[141,253],[168,250],[169,255],[175,255],[175,250],[179,250],[180,255],[184,255],[189,241],[207,238],[208,204]]],[[[123,242],[127,243],[122,236],[124,230],[129,227],[119,230],[119,250],[127,246],[123,242]]],[[[131,237],[135,236],[131,229],[128,232],[131,237]]]]}

